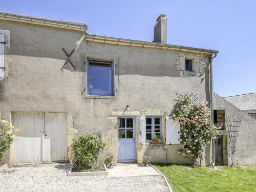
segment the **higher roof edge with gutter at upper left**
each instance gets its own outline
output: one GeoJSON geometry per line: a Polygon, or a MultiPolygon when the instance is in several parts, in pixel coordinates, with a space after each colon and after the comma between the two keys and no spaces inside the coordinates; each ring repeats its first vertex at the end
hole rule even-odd
{"type": "Polygon", "coordinates": [[[69,22],[67,20],[49,19],[49,18],[28,16],[28,15],[15,14],[15,13],[3,12],[3,11],[0,11],[0,19],[14,20],[14,21],[23,22],[23,23],[46,25],[46,26],[68,28],[68,29],[75,29],[75,30],[83,30],[83,31],[87,30],[86,23],[69,22]]]}

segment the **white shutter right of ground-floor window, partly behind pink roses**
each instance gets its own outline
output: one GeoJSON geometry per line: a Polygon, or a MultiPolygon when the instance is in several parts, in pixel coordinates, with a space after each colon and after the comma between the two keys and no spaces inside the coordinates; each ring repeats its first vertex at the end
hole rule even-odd
{"type": "Polygon", "coordinates": [[[166,116],[166,144],[179,144],[180,123],[166,116]]]}

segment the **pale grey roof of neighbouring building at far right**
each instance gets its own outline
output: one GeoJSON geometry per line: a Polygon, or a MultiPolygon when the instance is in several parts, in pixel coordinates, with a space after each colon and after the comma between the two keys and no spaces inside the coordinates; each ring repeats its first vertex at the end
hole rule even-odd
{"type": "Polygon", "coordinates": [[[256,113],[256,93],[233,95],[224,99],[246,113],[256,113]]]}

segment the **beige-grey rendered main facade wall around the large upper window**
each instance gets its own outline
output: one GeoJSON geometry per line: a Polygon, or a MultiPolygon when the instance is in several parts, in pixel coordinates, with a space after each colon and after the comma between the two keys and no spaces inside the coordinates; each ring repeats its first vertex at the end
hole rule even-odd
{"type": "MultiPolygon", "coordinates": [[[[67,112],[74,117],[78,133],[106,135],[106,116],[124,110],[127,104],[137,111],[172,109],[176,92],[182,91],[197,91],[201,100],[209,98],[207,74],[180,76],[175,65],[181,54],[178,51],[86,42],[81,40],[83,32],[4,20],[0,29],[10,31],[12,57],[9,74],[0,82],[2,119],[10,119],[11,112],[67,112]],[[61,48],[68,53],[76,49],[70,58],[76,71],[69,63],[60,70],[66,60],[61,48]],[[116,58],[115,99],[82,94],[86,88],[84,62],[90,55],[116,58]]],[[[183,54],[197,57],[195,53],[183,54]]],[[[202,61],[208,73],[208,59],[204,56],[202,61]]],[[[177,145],[168,148],[172,151],[169,154],[174,154],[177,145]]]]}

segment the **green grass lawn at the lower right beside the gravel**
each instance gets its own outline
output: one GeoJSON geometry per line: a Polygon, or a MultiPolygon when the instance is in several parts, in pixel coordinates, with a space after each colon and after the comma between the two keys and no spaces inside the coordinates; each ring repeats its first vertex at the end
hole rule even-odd
{"type": "Polygon", "coordinates": [[[191,168],[182,165],[155,165],[172,186],[179,191],[256,191],[256,168],[208,167],[191,168]]]}

